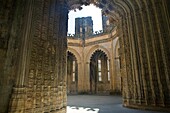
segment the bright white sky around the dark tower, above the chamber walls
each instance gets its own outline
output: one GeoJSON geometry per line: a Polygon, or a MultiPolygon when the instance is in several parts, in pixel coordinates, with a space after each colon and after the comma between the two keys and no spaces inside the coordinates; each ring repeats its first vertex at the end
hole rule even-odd
{"type": "Polygon", "coordinates": [[[68,19],[68,33],[75,34],[75,18],[77,17],[87,17],[91,16],[93,19],[93,31],[102,30],[102,17],[101,17],[101,9],[94,6],[93,4],[89,6],[82,6],[82,10],[76,10],[69,12],[68,19]]]}

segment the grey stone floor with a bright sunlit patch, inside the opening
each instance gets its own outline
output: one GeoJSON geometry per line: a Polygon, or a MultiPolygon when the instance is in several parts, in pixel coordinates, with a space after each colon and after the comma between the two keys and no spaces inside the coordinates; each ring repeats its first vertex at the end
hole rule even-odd
{"type": "Polygon", "coordinates": [[[67,113],[165,113],[122,107],[120,96],[71,95],[67,113]]]}

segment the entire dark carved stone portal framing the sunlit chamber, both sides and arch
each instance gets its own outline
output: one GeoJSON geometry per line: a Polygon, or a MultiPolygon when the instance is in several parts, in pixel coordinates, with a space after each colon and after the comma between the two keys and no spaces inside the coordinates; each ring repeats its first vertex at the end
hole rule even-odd
{"type": "Polygon", "coordinates": [[[89,3],[118,22],[124,106],[169,108],[168,0],[0,3],[0,112],[65,112],[68,8],[89,3]]]}

